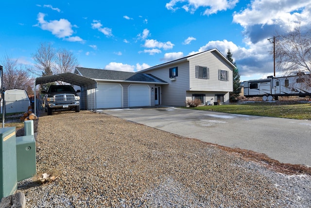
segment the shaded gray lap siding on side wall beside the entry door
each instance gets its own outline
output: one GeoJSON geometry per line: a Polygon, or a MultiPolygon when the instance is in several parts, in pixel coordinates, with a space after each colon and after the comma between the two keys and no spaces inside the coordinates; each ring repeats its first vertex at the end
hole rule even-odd
{"type": "Polygon", "coordinates": [[[169,85],[161,86],[161,104],[174,106],[184,106],[186,104],[186,90],[189,90],[188,61],[150,70],[146,73],[150,73],[169,83],[169,85]],[[178,67],[178,76],[175,81],[170,79],[170,68],[173,67],[178,67]]]}

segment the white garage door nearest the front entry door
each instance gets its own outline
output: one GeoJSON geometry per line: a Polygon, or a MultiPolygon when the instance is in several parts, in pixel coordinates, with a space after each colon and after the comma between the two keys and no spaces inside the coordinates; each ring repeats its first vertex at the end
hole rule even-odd
{"type": "Polygon", "coordinates": [[[150,88],[148,85],[131,85],[128,87],[128,105],[150,106],[150,88]]]}

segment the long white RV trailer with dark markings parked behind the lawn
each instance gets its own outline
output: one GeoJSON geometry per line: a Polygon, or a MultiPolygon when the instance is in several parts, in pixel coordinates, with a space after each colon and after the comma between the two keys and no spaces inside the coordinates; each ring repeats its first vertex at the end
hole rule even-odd
{"type": "Polygon", "coordinates": [[[243,83],[244,96],[262,97],[263,101],[278,100],[279,96],[311,96],[310,74],[297,73],[295,76],[273,77],[249,80],[243,83]]]}

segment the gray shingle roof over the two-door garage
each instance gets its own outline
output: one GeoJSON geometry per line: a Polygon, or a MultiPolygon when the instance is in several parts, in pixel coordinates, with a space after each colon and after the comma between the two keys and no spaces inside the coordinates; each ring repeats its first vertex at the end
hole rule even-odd
{"type": "Polygon", "coordinates": [[[139,72],[114,71],[105,69],[89,69],[76,67],[76,70],[87,78],[95,80],[116,80],[116,81],[134,81],[134,82],[155,82],[167,83],[151,74],[139,72]]]}

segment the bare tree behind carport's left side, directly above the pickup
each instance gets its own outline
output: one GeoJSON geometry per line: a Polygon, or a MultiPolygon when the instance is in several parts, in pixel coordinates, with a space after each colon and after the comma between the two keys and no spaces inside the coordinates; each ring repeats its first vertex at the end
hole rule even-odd
{"type": "Polygon", "coordinates": [[[38,50],[32,56],[35,61],[35,74],[38,76],[52,75],[55,55],[56,52],[51,43],[40,43],[38,50]]]}

